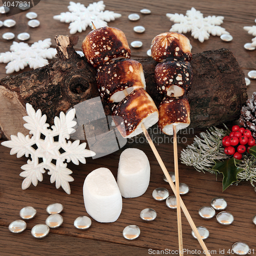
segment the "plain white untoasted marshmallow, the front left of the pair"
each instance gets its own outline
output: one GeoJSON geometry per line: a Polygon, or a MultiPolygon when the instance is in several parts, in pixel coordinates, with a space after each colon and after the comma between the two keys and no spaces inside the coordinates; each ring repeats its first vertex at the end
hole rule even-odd
{"type": "Polygon", "coordinates": [[[122,196],[108,168],[93,170],[83,183],[84,206],[98,222],[114,222],[122,210],[122,196]]]}

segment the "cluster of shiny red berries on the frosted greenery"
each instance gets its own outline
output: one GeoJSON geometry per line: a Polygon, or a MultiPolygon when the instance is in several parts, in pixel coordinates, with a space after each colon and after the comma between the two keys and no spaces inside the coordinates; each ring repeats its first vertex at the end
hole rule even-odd
{"type": "Polygon", "coordinates": [[[225,136],[222,139],[222,145],[224,146],[224,152],[227,155],[233,155],[236,159],[242,159],[242,154],[252,146],[256,146],[255,139],[251,136],[249,130],[239,127],[239,125],[234,125],[232,127],[232,132],[229,136],[225,136]]]}

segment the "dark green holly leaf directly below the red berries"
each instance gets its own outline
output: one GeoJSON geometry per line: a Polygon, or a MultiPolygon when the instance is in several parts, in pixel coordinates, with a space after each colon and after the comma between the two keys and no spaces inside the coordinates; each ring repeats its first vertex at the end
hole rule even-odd
{"type": "Polygon", "coordinates": [[[217,170],[219,173],[223,174],[222,191],[229,187],[233,182],[238,181],[237,175],[243,170],[243,168],[239,168],[236,165],[240,162],[241,160],[234,159],[233,157],[226,159],[223,162],[215,161],[215,166],[212,167],[212,169],[217,170]]]}

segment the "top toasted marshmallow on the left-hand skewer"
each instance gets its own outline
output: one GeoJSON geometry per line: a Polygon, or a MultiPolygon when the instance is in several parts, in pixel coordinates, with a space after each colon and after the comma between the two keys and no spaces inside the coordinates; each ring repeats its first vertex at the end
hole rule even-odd
{"type": "Polygon", "coordinates": [[[82,42],[82,51],[94,68],[113,58],[131,57],[131,50],[124,33],[120,29],[111,27],[91,31],[82,42]]]}

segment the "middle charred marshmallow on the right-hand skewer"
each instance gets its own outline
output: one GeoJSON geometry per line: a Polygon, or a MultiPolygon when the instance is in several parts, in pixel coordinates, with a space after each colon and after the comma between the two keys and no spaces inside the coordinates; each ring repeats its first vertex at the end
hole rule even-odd
{"type": "Polygon", "coordinates": [[[155,69],[157,90],[164,95],[180,97],[191,88],[193,74],[187,61],[164,61],[155,69]]]}

